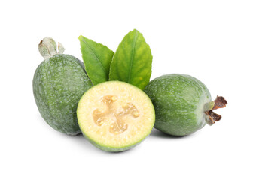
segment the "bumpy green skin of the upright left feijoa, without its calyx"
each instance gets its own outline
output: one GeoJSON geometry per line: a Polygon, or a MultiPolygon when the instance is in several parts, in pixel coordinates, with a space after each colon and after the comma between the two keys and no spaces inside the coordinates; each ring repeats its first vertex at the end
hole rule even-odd
{"type": "Polygon", "coordinates": [[[44,60],[33,78],[41,116],[53,129],[72,136],[81,133],[76,110],[79,99],[91,86],[84,64],[72,55],[56,54],[44,60]]]}

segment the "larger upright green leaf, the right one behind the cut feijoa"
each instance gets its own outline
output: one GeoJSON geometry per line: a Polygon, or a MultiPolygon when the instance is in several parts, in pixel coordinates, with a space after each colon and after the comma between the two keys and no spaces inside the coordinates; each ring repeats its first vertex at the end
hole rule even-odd
{"type": "Polygon", "coordinates": [[[143,90],[151,77],[152,58],[142,34],[136,29],[130,31],[114,54],[109,80],[124,81],[143,90]]]}

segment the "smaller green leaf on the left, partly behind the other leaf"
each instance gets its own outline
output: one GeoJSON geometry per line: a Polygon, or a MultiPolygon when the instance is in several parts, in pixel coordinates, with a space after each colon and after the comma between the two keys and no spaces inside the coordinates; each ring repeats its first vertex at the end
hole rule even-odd
{"type": "Polygon", "coordinates": [[[80,36],[79,40],[85,70],[93,85],[107,81],[114,52],[86,37],[80,36]]]}

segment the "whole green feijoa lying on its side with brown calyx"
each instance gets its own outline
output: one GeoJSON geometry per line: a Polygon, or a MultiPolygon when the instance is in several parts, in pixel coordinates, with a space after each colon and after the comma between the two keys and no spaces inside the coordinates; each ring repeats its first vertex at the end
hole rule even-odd
{"type": "Polygon", "coordinates": [[[221,119],[214,113],[227,101],[218,96],[212,101],[206,86],[185,74],[167,74],[148,83],[145,92],[156,113],[154,127],[172,136],[186,136],[221,119]]]}

